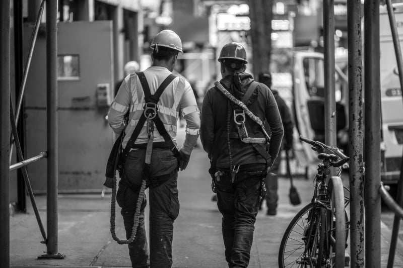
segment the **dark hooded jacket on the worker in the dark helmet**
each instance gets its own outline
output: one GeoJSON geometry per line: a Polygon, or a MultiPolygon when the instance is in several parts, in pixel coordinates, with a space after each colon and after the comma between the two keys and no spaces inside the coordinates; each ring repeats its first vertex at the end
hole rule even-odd
{"type": "MultiPolygon", "coordinates": [[[[253,78],[250,74],[240,72],[224,77],[220,80],[220,83],[235,98],[242,100],[252,81],[253,78]]],[[[279,109],[272,91],[266,85],[258,83],[246,106],[255,116],[259,117],[263,122],[267,120],[270,125],[271,142],[268,148],[268,154],[270,155],[268,164],[271,165],[279,153],[284,132],[279,109]]],[[[237,107],[215,86],[209,89],[203,100],[200,116],[200,139],[209,159],[215,162],[216,167],[220,169],[230,167],[229,147],[232,165],[266,163],[266,159],[252,144],[244,143],[239,137],[234,136],[234,134],[237,134],[237,130],[233,108],[237,107]],[[228,146],[227,141],[228,127],[230,130],[230,146],[228,146]],[[213,145],[216,138],[219,138],[216,142],[217,145],[213,145]]],[[[245,125],[250,137],[265,137],[261,127],[248,116],[245,116],[245,125]]]]}

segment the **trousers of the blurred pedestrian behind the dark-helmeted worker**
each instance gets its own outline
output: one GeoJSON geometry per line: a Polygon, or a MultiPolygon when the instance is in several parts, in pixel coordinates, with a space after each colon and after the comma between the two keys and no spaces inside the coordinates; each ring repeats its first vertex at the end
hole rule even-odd
{"type": "Polygon", "coordinates": [[[266,175],[266,189],[267,195],[265,197],[267,210],[276,211],[278,202],[279,202],[279,169],[281,163],[281,154],[277,156],[276,160],[274,161],[270,172],[266,175]],[[273,174],[275,175],[273,175],[273,174]]]}

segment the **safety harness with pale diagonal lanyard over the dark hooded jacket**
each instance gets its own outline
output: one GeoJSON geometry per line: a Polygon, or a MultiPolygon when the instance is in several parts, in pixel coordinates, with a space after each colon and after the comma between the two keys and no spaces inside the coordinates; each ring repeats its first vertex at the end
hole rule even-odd
{"type": "MultiPolygon", "coordinates": [[[[235,165],[232,164],[232,154],[231,154],[231,146],[230,146],[230,138],[239,138],[242,142],[244,143],[249,143],[251,144],[256,151],[266,160],[266,170],[268,168],[268,159],[270,158],[270,154],[268,154],[267,150],[266,150],[266,145],[268,145],[270,143],[270,136],[267,134],[267,132],[264,129],[264,125],[263,122],[261,121],[261,119],[257,116],[255,116],[247,107],[246,104],[249,101],[250,97],[252,96],[253,92],[255,91],[258,82],[252,81],[248,87],[248,89],[245,92],[245,95],[242,98],[242,101],[239,101],[238,99],[236,99],[233,95],[231,95],[231,93],[229,93],[224,86],[219,82],[216,81],[214,83],[214,85],[218,88],[218,90],[224,94],[225,97],[227,97],[229,99],[229,101],[231,101],[233,104],[235,104],[232,108],[229,105],[228,107],[228,112],[227,112],[227,143],[228,143],[228,154],[229,154],[229,162],[230,162],[230,173],[231,173],[231,178],[232,178],[232,182],[234,182],[235,180],[235,176],[239,171],[240,166],[238,165],[238,167],[236,167],[235,165]],[[231,109],[233,109],[233,114],[234,114],[234,122],[236,125],[236,129],[237,129],[237,135],[233,135],[232,133],[230,133],[230,112],[231,109]],[[256,122],[260,127],[261,130],[264,134],[264,138],[255,138],[255,137],[249,137],[248,132],[247,132],[247,127],[246,127],[246,121],[245,121],[245,114],[252,119],[254,122],[256,122]]],[[[211,167],[210,167],[210,174],[212,174],[212,191],[214,193],[216,193],[216,186],[215,186],[215,176],[213,175],[216,169],[216,158],[218,155],[218,150],[216,150],[218,142],[222,136],[222,133],[224,132],[224,128],[221,128],[218,130],[217,135],[214,139],[213,142],[213,153],[212,153],[212,159],[214,159],[213,161],[211,161],[211,167]]],[[[264,197],[265,195],[265,186],[264,186],[264,176],[265,176],[265,172],[263,172],[264,174],[262,175],[262,189],[261,191],[264,193],[261,193],[260,196],[262,198],[262,196],[264,197]]]]}

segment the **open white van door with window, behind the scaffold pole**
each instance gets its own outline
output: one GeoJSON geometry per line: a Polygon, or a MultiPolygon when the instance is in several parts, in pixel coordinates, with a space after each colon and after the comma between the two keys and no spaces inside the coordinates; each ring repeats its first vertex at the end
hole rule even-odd
{"type": "MultiPolygon", "coordinates": [[[[317,52],[294,52],[294,114],[297,130],[300,135],[324,142],[324,58],[317,52]]],[[[338,146],[348,148],[348,94],[347,76],[335,66],[335,101],[338,131],[338,146]],[[344,139],[342,140],[343,137],[344,139]]],[[[298,144],[298,146],[300,146],[298,144]]],[[[309,161],[316,160],[311,146],[301,143],[305,156],[309,161]]]]}

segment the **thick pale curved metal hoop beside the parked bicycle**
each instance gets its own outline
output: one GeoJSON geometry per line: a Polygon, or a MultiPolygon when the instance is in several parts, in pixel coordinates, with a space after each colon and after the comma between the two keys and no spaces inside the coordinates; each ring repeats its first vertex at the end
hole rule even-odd
{"type": "Polygon", "coordinates": [[[325,267],[342,268],[345,265],[345,250],[348,236],[345,197],[342,180],[333,176],[329,180],[330,208],[326,216],[326,243],[324,247],[325,267]]]}

